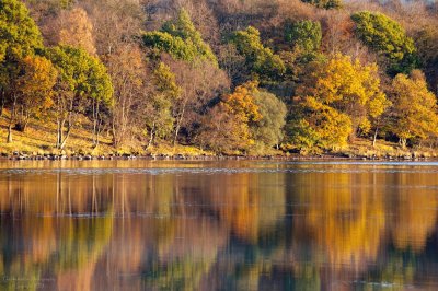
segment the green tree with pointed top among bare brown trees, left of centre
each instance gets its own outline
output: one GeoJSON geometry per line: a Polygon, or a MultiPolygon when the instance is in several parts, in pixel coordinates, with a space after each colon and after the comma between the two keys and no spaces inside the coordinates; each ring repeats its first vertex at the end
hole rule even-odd
{"type": "Polygon", "coordinates": [[[165,51],[175,59],[193,61],[199,58],[216,66],[218,63],[210,46],[204,42],[184,9],[175,20],[165,22],[161,31],[143,33],[142,39],[147,47],[165,51]]]}

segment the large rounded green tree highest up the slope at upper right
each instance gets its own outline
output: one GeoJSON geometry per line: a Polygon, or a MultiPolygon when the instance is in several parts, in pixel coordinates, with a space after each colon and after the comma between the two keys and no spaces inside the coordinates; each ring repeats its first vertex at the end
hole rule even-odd
{"type": "Polygon", "coordinates": [[[417,66],[414,40],[397,22],[369,11],[353,14],[351,20],[356,23],[356,36],[388,59],[390,74],[410,72],[417,66]]]}

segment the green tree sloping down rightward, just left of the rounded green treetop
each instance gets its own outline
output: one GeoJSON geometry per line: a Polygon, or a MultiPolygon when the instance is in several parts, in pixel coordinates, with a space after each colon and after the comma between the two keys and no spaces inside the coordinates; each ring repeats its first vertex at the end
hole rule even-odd
{"type": "Polygon", "coordinates": [[[246,59],[246,66],[254,77],[262,81],[277,81],[286,72],[286,67],[279,56],[262,44],[260,32],[249,26],[244,31],[235,32],[231,37],[239,54],[246,59]]]}

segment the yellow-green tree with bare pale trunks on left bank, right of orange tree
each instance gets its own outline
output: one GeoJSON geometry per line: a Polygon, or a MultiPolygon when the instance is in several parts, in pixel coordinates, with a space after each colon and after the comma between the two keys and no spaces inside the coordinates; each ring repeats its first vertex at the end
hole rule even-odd
{"type": "Polygon", "coordinates": [[[90,103],[93,136],[97,138],[101,106],[111,106],[113,102],[113,86],[105,67],[80,48],[60,46],[46,49],[44,54],[59,72],[55,85],[57,148],[66,146],[71,129],[79,123],[79,115],[87,113],[90,103]]]}

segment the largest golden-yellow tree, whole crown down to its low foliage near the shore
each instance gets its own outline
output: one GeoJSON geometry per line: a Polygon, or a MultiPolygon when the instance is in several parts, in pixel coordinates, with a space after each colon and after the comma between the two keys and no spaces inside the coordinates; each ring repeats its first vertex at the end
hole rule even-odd
{"type": "Polygon", "coordinates": [[[389,105],[380,89],[378,67],[362,66],[343,55],[335,55],[318,66],[298,94],[296,110],[301,114],[296,117],[301,115],[302,119],[291,120],[291,135],[297,138],[306,131],[306,140],[313,140],[309,144],[320,143],[325,149],[330,149],[330,142],[345,146],[347,132],[354,138],[376,129],[372,121],[389,105]]]}

